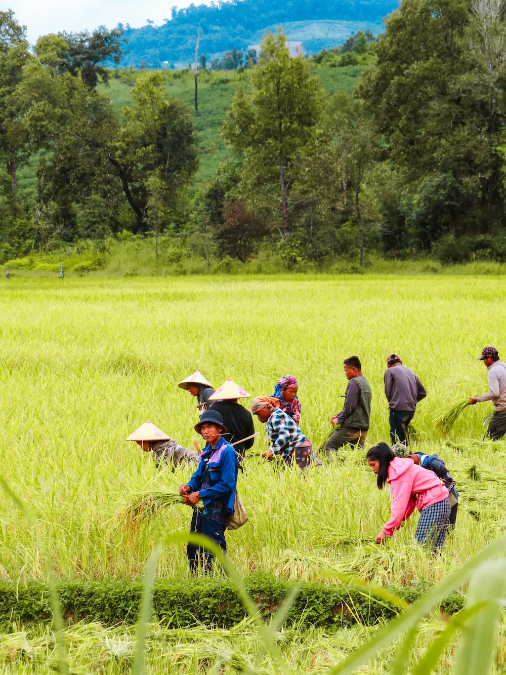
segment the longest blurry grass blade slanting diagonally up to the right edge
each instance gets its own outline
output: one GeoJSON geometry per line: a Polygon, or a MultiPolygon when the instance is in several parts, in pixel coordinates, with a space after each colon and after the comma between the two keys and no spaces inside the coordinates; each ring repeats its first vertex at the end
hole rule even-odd
{"type": "Polygon", "coordinates": [[[384,628],[378,630],[372,640],[352,652],[338,666],[329,668],[327,675],[351,674],[368,663],[368,661],[376,657],[382,649],[391,645],[406,630],[410,630],[413,626],[416,626],[420,619],[426,616],[451,591],[466,583],[474,570],[481,564],[495,558],[495,556],[499,556],[505,550],[506,536],[500,537],[491,543],[490,546],[487,546],[486,549],[477,553],[474,558],[471,558],[466,564],[455,570],[453,574],[449,574],[449,576],[429,589],[423,597],[410,605],[410,607],[407,607],[405,612],[391,620],[384,628]]]}

